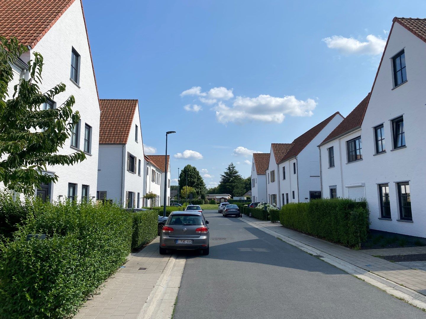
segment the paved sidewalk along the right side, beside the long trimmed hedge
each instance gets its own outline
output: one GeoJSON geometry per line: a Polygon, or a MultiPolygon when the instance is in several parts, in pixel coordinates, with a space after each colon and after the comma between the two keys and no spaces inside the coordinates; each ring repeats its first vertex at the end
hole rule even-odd
{"type": "Polygon", "coordinates": [[[331,256],[395,282],[398,285],[403,285],[406,288],[426,295],[426,271],[412,269],[404,265],[389,262],[385,259],[373,257],[364,251],[355,251],[297,231],[292,231],[291,229],[282,227],[279,223],[259,221],[258,219],[246,215],[242,215],[242,219],[290,237],[305,245],[311,246],[319,251],[328,253],[331,256]]]}

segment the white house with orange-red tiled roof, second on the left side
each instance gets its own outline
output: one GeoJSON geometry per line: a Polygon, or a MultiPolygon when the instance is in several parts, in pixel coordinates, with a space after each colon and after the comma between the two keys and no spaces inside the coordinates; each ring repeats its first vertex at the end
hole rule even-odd
{"type": "Polygon", "coordinates": [[[144,146],[138,100],[100,100],[98,199],[141,208],[144,146]]]}

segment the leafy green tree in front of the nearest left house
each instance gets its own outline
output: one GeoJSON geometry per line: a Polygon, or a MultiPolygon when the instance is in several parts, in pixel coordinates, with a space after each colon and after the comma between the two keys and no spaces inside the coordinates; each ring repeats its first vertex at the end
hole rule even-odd
{"type": "Polygon", "coordinates": [[[60,155],[58,150],[71,135],[73,123],[80,120],[72,111],[71,95],[57,108],[43,110],[41,105],[65,91],[60,83],[49,91],[40,91],[43,57],[35,52],[29,61],[29,80],[14,85],[12,99],[7,93],[12,82],[12,64],[27,51],[16,38],[0,37],[0,181],[6,188],[26,195],[34,194],[41,183],[56,182],[56,174],[47,175],[46,165],[73,165],[85,159],[82,151],[60,155]],[[9,98],[9,99],[7,99],[9,98]]]}

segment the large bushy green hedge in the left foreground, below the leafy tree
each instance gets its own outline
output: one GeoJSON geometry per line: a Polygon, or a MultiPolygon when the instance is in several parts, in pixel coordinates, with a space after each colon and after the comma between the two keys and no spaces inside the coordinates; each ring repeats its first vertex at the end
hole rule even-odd
{"type": "Polygon", "coordinates": [[[14,240],[0,242],[0,318],[70,316],[126,261],[132,217],[109,203],[35,200],[31,210],[14,240]],[[27,241],[36,233],[46,239],[27,241]]]}

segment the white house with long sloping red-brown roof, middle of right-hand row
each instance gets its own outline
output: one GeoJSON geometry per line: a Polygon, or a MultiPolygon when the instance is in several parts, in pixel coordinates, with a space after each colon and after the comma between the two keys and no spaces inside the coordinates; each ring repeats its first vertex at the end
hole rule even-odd
{"type": "Polygon", "coordinates": [[[324,140],[343,116],[336,112],[290,144],[272,144],[266,170],[268,199],[278,207],[289,202],[308,202],[321,197],[320,157],[317,145],[324,140]],[[275,148],[275,150],[274,150],[275,148]],[[272,156],[274,153],[275,157],[272,156]],[[278,155],[277,155],[278,154],[278,155]],[[271,183],[272,179],[276,182],[271,183]]]}

